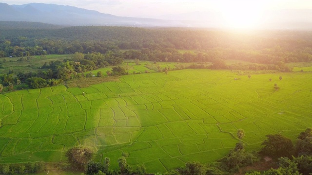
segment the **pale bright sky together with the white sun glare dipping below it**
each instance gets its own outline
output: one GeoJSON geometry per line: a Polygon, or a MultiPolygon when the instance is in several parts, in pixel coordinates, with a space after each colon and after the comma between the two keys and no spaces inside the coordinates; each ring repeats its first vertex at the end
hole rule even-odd
{"type": "Polygon", "coordinates": [[[224,27],[256,28],[266,10],[312,9],[312,0],[4,0],[9,5],[27,3],[70,5],[123,17],[161,18],[190,12],[219,12],[224,27]],[[248,15],[246,15],[248,14],[248,15]]]}

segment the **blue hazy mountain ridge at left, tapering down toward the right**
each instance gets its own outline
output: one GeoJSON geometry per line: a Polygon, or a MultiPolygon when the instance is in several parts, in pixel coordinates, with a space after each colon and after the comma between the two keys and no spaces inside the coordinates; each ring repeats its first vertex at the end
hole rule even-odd
{"type": "Polygon", "coordinates": [[[8,5],[0,3],[0,21],[29,21],[65,26],[182,26],[163,19],[117,17],[68,5],[29,3],[8,5]]]}

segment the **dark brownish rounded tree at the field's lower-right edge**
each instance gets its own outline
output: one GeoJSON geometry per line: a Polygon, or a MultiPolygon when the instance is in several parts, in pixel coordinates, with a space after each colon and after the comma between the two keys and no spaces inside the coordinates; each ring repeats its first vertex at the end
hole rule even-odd
{"type": "Polygon", "coordinates": [[[264,147],[260,154],[273,158],[292,157],[294,150],[292,140],[280,134],[267,135],[266,137],[267,139],[261,143],[264,147]]]}

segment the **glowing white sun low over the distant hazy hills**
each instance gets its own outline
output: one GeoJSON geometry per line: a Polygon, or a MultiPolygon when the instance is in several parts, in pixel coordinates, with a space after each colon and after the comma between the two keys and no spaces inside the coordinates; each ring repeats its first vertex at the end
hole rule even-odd
{"type": "Polygon", "coordinates": [[[223,25],[226,28],[257,28],[260,24],[262,6],[258,4],[242,2],[229,2],[221,9],[223,25]]]}

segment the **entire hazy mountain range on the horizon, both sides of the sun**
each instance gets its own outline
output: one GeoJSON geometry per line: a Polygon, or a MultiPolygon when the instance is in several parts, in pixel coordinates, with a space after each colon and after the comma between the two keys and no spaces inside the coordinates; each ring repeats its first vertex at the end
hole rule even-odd
{"type": "MultiPolygon", "coordinates": [[[[248,15],[248,14],[246,14],[248,15]]],[[[118,17],[94,10],[68,5],[0,3],[0,21],[29,21],[62,26],[138,26],[138,27],[222,27],[218,12],[191,12],[155,18],[118,17]]],[[[267,11],[261,23],[263,29],[312,30],[312,9],[267,11]]]]}

